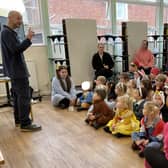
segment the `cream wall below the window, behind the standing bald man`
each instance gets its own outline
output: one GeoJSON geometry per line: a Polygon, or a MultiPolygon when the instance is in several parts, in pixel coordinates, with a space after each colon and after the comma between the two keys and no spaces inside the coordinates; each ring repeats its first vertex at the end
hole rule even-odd
{"type": "MultiPolygon", "coordinates": [[[[51,82],[48,73],[47,46],[31,46],[25,51],[24,55],[28,68],[32,67],[32,63],[35,66],[35,69],[29,69],[30,84],[33,83],[34,90],[38,88],[41,95],[50,94],[51,82]]],[[[2,62],[1,59],[0,62],[2,62]]],[[[5,84],[0,83],[0,97],[5,95],[5,84]]]]}

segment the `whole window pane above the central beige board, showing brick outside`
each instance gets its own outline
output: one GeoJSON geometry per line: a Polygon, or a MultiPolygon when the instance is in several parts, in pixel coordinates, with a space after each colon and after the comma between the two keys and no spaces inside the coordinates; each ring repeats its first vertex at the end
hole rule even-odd
{"type": "Polygon", "coordinates": [[[95,19],[97,34],[111,34],[108,0],[48,0],[49,21],[53,34],[62,34],[66,18],[95,19]]]}

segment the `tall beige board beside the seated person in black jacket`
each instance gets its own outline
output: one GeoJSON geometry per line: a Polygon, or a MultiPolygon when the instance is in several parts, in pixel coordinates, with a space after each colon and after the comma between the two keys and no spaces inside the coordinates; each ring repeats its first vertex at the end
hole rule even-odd
{"type": "Polygon", "coordinates": [[[93,80],[91,60],[97,51],[96,21],[66,19],[66,32],[71,75],[76,85],[93,80]]]}

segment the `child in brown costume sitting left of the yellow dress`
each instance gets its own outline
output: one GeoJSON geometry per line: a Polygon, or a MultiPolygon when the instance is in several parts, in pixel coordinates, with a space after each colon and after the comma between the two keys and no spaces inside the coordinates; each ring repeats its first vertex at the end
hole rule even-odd
{"type": "Polygon", "coordinates": [[[108,107],[104,99],[107,90],[104,85],[98,85],[93,94],[93,110],[88,114],[85,122],[95,129],[107,124],[114,116],[114,112],[108,107]]]}

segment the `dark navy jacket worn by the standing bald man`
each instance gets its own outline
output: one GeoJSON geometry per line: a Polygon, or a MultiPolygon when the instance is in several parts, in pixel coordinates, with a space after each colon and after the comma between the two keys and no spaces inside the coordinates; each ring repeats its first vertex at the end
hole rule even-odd
{"type": "Polygon", "coordinates": [[[4,26],[1,32],[1,50],[4,74],[11,79],[29,77],[23,52],[31,45],[29,39],[19,41],[17,33],[4,26]]]}

